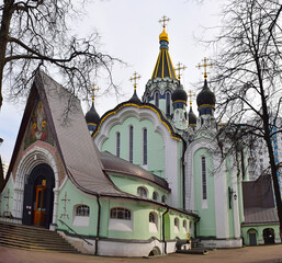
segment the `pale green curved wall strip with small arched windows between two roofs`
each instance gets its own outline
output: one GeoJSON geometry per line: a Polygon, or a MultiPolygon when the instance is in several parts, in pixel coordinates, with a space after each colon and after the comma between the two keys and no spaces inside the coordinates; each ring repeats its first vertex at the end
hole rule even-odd
{"type": "Polygon", "coordinates": [[[153,193],[156,191],[158,193],[158,201],[161,201],[161,196],[166,195],[167,201],[169,202],[169,194],[163,188],[153,184],[148,183],[144,180],[133,179],[129,176],[123,176],[117,174],[109,174],[113,183],[122,191],[137,195],[137,188],[139,186],[143,186],[147,190],[148,198],[153,199],[153,193]]]}

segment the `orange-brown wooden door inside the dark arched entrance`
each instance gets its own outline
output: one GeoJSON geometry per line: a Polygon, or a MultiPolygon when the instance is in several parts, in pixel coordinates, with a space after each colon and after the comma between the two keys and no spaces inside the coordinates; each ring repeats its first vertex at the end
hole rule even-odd
{"type": "Polygon", "coordinates": [[[44,226],[46,213],[46,186],[36,185],[34,226],[44,226]]]}

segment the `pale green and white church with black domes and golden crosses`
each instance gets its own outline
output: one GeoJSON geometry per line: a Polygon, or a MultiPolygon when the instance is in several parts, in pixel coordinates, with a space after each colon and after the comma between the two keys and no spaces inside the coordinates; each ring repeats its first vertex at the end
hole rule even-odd
{"type": "Polygon", "coordinates": [[[195,240],[203,248],[280,242],[271,183],[263,192],[268,180],[249,181],[247,149],[218,147],[224,125],[206,71],[199,114],[191,100],[188,108],[165,21],[142,100],[135,73],[133,96],[101,117],[94,102],[84,115],[77,98],[37,72],[0,220],[57,231],[78,251],[108,256],[173,253],[195,240]]]}

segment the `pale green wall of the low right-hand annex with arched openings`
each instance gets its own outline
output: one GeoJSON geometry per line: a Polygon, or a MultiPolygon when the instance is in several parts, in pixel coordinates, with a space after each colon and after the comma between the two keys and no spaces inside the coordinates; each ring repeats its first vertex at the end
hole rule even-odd
{"type": "Polygon", "coordinates": [[[241,227],[241,236],[244,238],[244,244],[245,245],[250,245],[250,240],[249,240],[249,231],[253,230],[257,233],[257,244],[263,244],[264,240],[263,240],[263,229],[266,228],[273,228],[274,229],[274,236],[275,239],[280,239],[279,238],[279,225],[278,224],[273,224],[273,225],[264,225],[264,226],[246,226],[246,227],[241,227]]]}

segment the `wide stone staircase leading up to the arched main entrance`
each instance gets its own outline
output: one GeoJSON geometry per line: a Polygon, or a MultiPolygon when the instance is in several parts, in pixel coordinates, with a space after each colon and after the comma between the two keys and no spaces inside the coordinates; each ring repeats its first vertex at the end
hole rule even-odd
{"type": "Polygon", "coordinates": [[[63,253],[79,253],[57,232],[0,221],[0,245],[63,253]]]}

